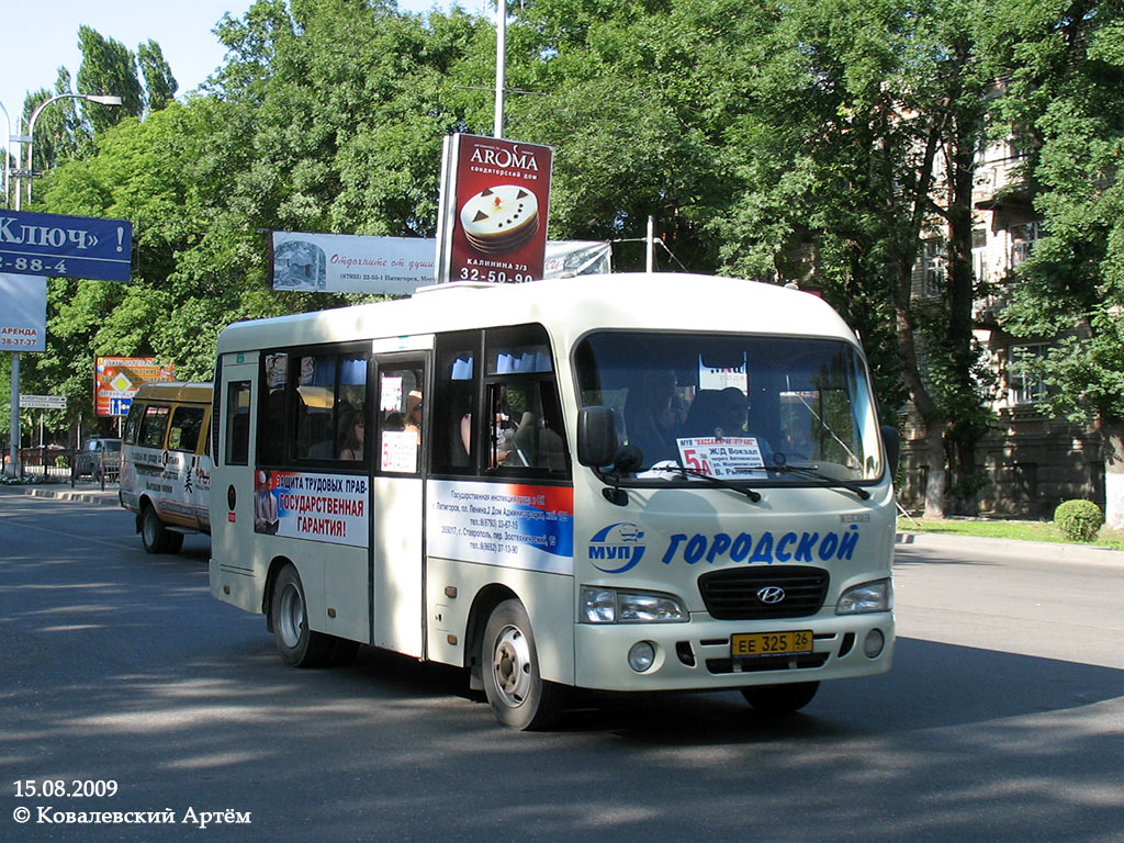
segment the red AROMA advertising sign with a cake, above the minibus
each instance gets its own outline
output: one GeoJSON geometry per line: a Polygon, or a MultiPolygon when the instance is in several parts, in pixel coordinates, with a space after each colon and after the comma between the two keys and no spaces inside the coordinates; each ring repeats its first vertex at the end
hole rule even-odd
{"type": "Polygon", "coordinates": [[[445,139],[438,282],[543,277],[553,151],[477,135],[445,139]]]}

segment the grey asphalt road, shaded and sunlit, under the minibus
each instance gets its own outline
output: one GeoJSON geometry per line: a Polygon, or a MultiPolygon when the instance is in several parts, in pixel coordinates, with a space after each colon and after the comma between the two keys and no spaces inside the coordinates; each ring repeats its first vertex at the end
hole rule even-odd
{"type": "Polygon", "coordinates": [[[1124,565],[903,546],[883,677],[780,720],[593,698],[526,734],[457,671],[284,667],[208,550],[0,493],[0,840],[1124,841],[1124,565]]]}

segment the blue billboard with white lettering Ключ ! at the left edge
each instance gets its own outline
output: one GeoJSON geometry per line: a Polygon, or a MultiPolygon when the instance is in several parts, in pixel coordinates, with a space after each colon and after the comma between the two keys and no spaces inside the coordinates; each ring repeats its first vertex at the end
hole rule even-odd
{"type": "Polygon", "coordinates": [[[133,224],[0,210],[0,272],[128,281],[133,224]]]}

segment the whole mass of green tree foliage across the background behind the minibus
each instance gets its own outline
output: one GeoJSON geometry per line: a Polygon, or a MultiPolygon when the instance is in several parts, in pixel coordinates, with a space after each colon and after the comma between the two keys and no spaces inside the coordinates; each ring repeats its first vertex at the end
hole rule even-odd
{"type": "MultiPolygon", "coordinates": [[[[944,437],[953,491],[970,497],[994,386],[971,333],[973,153],[1012,125],[1039,145],[1050,237],[1024,264],[1007,325],[1054,336],[1084,320],[1089,332],[1042,362],[1066,396],[1057,407],[1124,411],[1124,37],[1116,7],[1080,8],[513,3],[505,134],[555,148],[552,238],[633,241],[653,216],[673,255],[660,253],[664,268],[821,289],[860,334],[883,415],[912,397],[944,437]],[[937,232],[948,282],[925,302],[912,270],[937,232]]],[[[269,290],[264,233],[432,236],[442,138],[491,134],[495,33],[460,9],[257,0],[216,34],[225,65],[176,102],[155,43],[134,60],[83,27],[79,88],[127,106],[83,109],[90,125],[64,103],[44,115],[73,120],[51,160],[82,160],[37,185],[39,207],[134,223],[130,284],[51,284],[49,348],[27,378],[75,407],[97,353],[154,354],[205,378],[224,325],[346,303],[269,290]]],[[[636,269],[643,252],[622,243],[614,260],[636,269]]]]}

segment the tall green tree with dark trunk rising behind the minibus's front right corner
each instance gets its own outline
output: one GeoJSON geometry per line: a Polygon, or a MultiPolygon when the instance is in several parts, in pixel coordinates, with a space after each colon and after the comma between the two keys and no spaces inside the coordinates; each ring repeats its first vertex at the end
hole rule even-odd
{"type": "Polygon", "coordinates": [[[787,4],[750,49],[723,42],[711,60],[734,70],[714,107],[744,185],[715,220],[723,255],[742,274],[809,274],[862,335],[883,410],[905,387],[932,517],[945,511],[950,464],[976,475],[987,430],[971,333],[971,187],[995,72],[985,19],[975,0],[808,0],[787,4]],[[930,238],[948,244],[948,272],[918,297],[930,238]]]}

